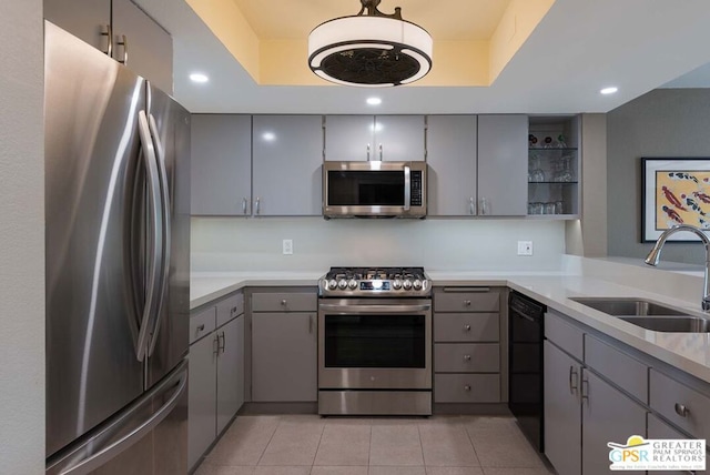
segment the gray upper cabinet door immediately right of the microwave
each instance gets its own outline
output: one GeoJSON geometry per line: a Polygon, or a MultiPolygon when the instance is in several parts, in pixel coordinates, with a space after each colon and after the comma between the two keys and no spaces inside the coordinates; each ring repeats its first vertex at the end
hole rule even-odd
{"type": "Polygon", "coordinates": [[[427,124],[427,214],[475,215],[477,117],[429,115],[427,124]]]}

